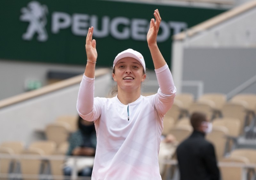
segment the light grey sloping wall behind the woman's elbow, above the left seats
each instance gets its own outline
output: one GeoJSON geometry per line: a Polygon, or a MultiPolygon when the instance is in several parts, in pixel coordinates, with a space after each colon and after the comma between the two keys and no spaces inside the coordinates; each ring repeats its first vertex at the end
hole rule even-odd
{"type": "MultiPolygon", "coordinates": [[[[95,96],[106,97],[111,74],[95,80],[95,96]]],[[[41,137],[44,129],[60,115],[77,115],[76,100],[80,84],[0,109],[0,143],[22,141],[26,145],[41,137]]]]}

